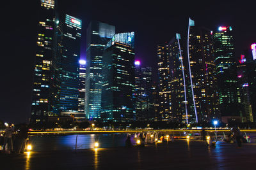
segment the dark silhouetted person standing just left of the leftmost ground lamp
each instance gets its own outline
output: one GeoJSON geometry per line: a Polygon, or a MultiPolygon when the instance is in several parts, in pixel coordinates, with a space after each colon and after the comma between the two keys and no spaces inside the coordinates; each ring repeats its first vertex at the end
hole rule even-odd
{"type": "Polygon", "coordinates": [[[27,138],[28,138],[28,127],[26,124],[22,124],[17,136],[17,150],[15,151],[15,153],[24,152],[27,138]]]}

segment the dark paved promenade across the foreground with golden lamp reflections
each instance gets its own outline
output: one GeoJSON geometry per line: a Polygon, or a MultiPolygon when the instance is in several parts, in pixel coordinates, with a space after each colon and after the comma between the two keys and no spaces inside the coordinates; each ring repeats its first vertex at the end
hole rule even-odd
{"type": "MultiPolygon", "coordinates": [[[[256,144],[218,142],[210,148],[202,141],[177,140],[145,148],[108,148],[0,153],[5,169],[255,169],[256,144]]],[[[0,167],[0,169],[2,169],[0,167]]]]}

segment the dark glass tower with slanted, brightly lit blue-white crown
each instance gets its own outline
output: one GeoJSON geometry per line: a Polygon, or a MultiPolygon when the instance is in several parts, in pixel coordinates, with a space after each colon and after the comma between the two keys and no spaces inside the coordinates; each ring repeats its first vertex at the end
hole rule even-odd
{"type": "Polygon", "coordinates": [[[102,61],[102,120],[134,120],[134,32],[115,34],[102,61]]]}

